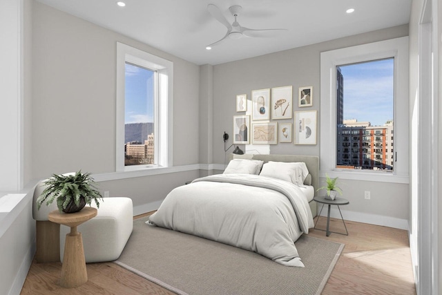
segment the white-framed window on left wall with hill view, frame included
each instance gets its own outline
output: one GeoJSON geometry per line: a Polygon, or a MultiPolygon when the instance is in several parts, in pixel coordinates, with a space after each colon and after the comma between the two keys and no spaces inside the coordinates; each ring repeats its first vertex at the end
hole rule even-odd
{"type": "Polygon", "coordinates": [[[172,166],[173,63],[117,43],[116,171],[172,166]]]}

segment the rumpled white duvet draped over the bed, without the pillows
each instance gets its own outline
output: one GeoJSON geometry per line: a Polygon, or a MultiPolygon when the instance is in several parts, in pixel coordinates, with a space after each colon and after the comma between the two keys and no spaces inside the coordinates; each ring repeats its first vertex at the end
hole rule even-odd
{"type": "Polygon", "coordinates": [[[173,189],[147,224],[303,267],[294,242],[314,227],[307,198],[284,180],[250,174],[198,178],[173,189]]]}

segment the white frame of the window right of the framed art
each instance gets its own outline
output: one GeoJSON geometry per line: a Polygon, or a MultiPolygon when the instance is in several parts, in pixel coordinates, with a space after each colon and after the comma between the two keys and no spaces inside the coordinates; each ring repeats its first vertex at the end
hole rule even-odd
{"type": "Polygon", "coordinates": [[[320,53],[320,176],[408,183],[408,37],[320,53]],[[394,57],[394,171],[336,169],[336,66],[394,57]],[[401,87],[399,87],[401,86],[401,87]],[[405,87],[404,87],[405,86],[405,87]],[[397,160],[397,161],[396,161],[397,160]]]}

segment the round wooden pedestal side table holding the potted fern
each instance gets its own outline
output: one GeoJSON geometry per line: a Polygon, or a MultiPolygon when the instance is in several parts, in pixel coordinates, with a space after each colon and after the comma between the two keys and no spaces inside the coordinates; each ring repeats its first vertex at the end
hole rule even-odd
{"type": "Polygon", "coordinates": [[[97,209],[92,207],[84,207],[76,213],[60,213],[58,210],[55,210],[48,214],[50,221],[70,227],[70,233],[66,234],[66,243],[64,245],[61,287],[78,287],[88,281],[83,238],[81,238],[81,233],[77,231],[77,226],[95,216],[97,216],[97,209]]]}

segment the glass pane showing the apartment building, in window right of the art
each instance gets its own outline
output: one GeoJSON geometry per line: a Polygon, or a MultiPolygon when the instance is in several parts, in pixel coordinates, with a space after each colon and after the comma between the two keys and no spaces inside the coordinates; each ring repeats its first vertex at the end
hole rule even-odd
{"type": "Polygon", "coordinates": [[[336,133],[352,146],[336,149],[336,168],[393,171],[394,58],[336,66],[336,82],[336,133]]]}

